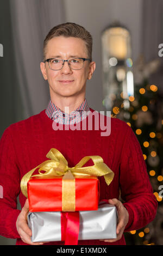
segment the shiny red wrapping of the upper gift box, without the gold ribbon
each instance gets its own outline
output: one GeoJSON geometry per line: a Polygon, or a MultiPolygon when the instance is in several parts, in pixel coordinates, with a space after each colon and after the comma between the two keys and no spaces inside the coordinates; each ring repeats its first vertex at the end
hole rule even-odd
{"type": "MultiPolygon", "coordinates": [[[[30,179],[28,181],[29,211],[63,211],[62,180],[62,177],[30,179]]],[[[74,182],[74,211],[97,210],[99,200],[98,178],[96,176],[77,176],[74,182]]]]}

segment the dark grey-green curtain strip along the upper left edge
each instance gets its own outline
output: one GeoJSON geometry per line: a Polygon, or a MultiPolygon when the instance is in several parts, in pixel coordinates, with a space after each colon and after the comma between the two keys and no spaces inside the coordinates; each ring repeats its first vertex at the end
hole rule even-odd
{"type": "Polygon", "coordinates": [[[0,43],[3,57],[0,57],[0,137],[10,124],[23,118],[22,99],[16,76],[14,46],[11,35],[9,0],[0,5],[0,43]]]}

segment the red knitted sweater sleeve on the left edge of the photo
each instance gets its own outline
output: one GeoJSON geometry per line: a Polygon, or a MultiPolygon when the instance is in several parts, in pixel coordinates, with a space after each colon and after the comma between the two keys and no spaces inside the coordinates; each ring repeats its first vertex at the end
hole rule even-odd
{"type": "Polygon", "coordinates": [[[20,235],[16,229],[17,196],[20,193],[20,172],[10,134],[10,126],[4,131],[0,141],[0,235],[16,239],[20,235]]]}

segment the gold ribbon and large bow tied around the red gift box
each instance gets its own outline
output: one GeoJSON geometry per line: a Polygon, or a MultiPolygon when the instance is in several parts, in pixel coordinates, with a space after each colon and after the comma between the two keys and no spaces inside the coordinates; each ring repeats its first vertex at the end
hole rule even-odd
{"type": "MultiPolygon", "coordinates": [[[[104,163],[101,156],[85,156],[81,159],[76,166],[68,167],[68,162],[65,157],[60,153],[58,149],[52,148],[46,155],[48,159],[39,166],[36,166],[34,169],[26,173],[21,180],[21,191],[25,197],[28,197],[27,193],[27,183],[32,177],[44,177],[44,178],[54,178],[55,176],[64,176],[62,179],[62,202],[64,206],[64,211],[72,209],[75,206],[75,185],[74,185],[74,176],[104,176],[106,184],[109,186],[112,179],[114,178],[114,173],[112,170],[104,163]],[[83,167],[84,164],[92,159],[94,165],[83,167]],[[39,168],[39,174],[32,175],[34,171],[39,168]],[[45,171],[42,173],[41,171],[45,171]],[[63,186],[64,184],[64,186],[63,186]],[[69,184],[69,185],[68,185],[69,184]],[[71,184],[71,187],[70,187],[71,184]],[[72,190],[71,190],[72,188],[72,190]],[[69,193],[67,193],[69,191],[69,193]],[[74,191],[74,192],[71,192],[74,191]],[[72,193],[72,194],[70,194],[72,193]],[[70,197],[73,200],[70,200],[70,197]],[[68,203],[69,202],[69,203],[68,203]],[[71,203],[73,202],[73,203],[71,203]]],[[[73,210],[72,210],[73,211],[73,210]]]]}

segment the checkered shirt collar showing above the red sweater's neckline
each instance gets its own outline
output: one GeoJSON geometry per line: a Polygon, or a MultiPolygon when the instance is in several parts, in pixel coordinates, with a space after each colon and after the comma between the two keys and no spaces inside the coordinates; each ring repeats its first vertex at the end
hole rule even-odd
{"type": "Polygon", "coordinates": [[[85,99],[75,111],[67,114],[49,100],[45,113],[49,118],[59,124],[76,124],[89,115],[90,108],[85,99]]]}

